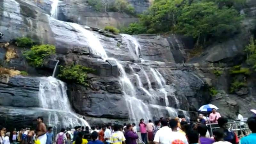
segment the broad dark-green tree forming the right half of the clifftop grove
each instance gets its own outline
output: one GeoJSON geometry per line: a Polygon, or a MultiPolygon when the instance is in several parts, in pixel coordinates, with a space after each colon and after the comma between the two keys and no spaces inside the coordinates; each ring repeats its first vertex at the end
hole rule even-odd
{"type": "Polygon", "coordinates": [[[209,38],[234,34],[240,27],[241,19],[239,12],[233,8],[219,8],[213,2],[197,2],[184,6],[176,32],[193,36],[197,44],[204,44],[209,38]]]}

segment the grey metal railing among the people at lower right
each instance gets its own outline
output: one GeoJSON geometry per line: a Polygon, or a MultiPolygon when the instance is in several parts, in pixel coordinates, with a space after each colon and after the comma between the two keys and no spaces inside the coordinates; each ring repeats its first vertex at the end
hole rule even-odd
{"type": "MultiPolygon", "coordinates": [[[[229,125],[229,130],[230,131],[234,131],[238,137],[244,137],[246,135],[249,135],[251,132],[251,130],[249,129],[249,126],[246,123],[246,120],[244,121],[230,121],[228,122],[229,125]],[[240,123],[244,122],[244,125],[242,126],[243,128],[241,128],[240,123]],[[238,133],[241,133],[240,135],[238,135],[238,133]]],[[[212,136],[212,132],[215,129],[219,129],[220,126],[218,125],[218,123],[213,123],[213,124],[206,124],[206,126],[208,126],[208,130],[210,135],[212,136]]]]}

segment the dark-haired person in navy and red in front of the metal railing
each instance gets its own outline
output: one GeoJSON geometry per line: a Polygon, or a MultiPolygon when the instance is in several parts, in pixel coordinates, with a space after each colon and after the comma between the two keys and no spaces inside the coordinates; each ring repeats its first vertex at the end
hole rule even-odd
{"type": "Polygon", "coordinates": [[[220,129],[222,129],[224,132],[224,135],[225,135],[224,140],[225,141],[231,142],[232,144],[239,143],[236,133],[233,131],[230,131],[228,129],[229,127],[228,127],[228,119],[227,118],[220,117],[218,119],[218,124],[220,126],[220,129]]]}

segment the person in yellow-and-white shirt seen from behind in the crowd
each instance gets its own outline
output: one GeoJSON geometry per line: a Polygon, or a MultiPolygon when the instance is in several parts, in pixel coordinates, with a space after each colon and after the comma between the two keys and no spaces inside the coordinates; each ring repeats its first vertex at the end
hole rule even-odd
{"type": "Polygon", "coordinates": [[[110,137],[110,143],[111,144],[125,144],[125,137],[124,133],[119,131],[120,127],[119,125],[114,125],[114,133],[110,137]]]}

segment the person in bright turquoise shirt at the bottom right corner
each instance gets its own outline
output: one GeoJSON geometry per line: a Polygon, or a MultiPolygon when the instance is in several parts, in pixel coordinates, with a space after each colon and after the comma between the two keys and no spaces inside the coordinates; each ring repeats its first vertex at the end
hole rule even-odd
{"type": "Polygon", "coordinates": [[[252,133],[246,137],[243,137],[241,139],[241,144],[255,144],[255,142],[256,142],[256,117],[248,118],[247,124],[249,126],[249,129],[252,131],[252,133]]]}

